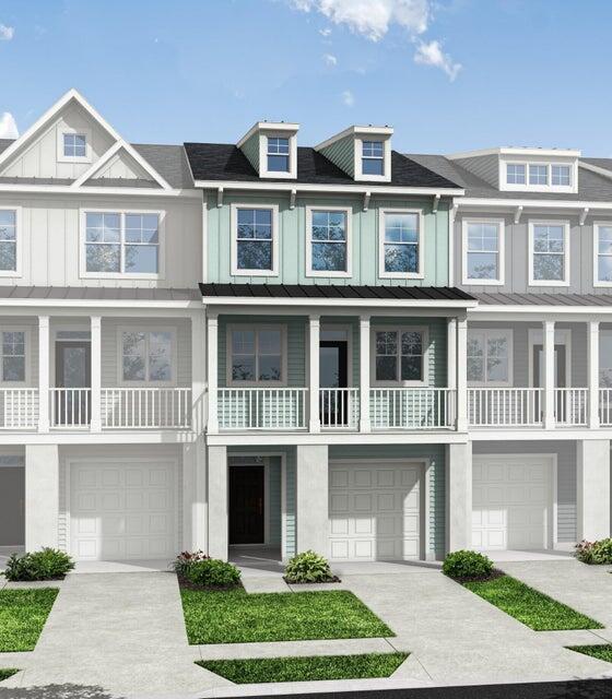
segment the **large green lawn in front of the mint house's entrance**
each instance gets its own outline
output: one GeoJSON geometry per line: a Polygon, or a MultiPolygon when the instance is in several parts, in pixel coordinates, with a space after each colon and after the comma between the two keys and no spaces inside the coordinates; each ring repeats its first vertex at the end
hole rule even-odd
{"type": "Polygon", "coordinates": [[[248,643],[395,633],[352,592],[247,594],[244,589],[180,591],[190,643],[248,643]]]}

